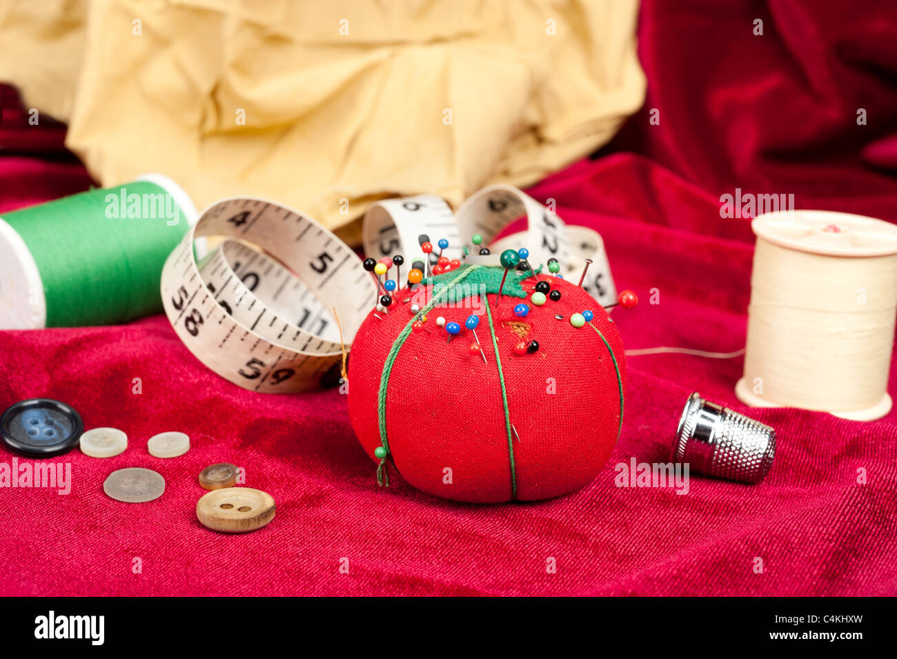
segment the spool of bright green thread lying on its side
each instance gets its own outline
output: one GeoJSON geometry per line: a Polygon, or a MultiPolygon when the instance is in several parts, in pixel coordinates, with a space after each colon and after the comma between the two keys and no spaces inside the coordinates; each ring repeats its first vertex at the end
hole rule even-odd
{"type": "Polygon", "coordinates": [[[187,194],[156,174],[0,215],[0,329],[161,312],[162,266],[195,221],[187,194]]]}

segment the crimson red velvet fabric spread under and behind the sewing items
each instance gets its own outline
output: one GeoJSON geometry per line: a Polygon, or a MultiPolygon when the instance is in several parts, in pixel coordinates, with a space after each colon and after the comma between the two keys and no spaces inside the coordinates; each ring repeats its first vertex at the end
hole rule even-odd
{"type": "MultiPolygon", "coordinates": [[[[718,204],[736,186],[897,220],[893,9],[763,6],[645,2],[646,108],[605,154],[629,152],[531,191],[600,231],[618,286],[640,294],[638,308],[614,312],[627,349],[744,346],[753,240],[718,204]]],[[[4,156],[0,212],[87,181],[70,162],[4,156]]],[[[0,594],[897,594],[897,412],[860,423],[748,410],[732,393],[741,369],[740,358],[628,358],[623,434],[594,481],[559,499],[479,506],[399,479],[379,490],[343,395],[243,391],[202,367],[161,316],[0,333],[0,405],[59,398],[87,427],[116,426],[131,441],[109,460],[56,458],[72,464],[69,495],[0,490],[0,594]],[[767,480],[692,475],[685,495],[616,487],[616,464],[666,461],[693,390],[776,428],[767,480]],[[148,455],[146,439],[168,429],[191,435],[190,452],[148,455]],[[218,461],[274,496],[265,529],[225,536],[196,521],[196,474],[218,461]],[[165,495],[108,499],[103,479],[125,466],[162,473],[165,495]]],[[[0,462],[11,459],[0,449],[0,462]]]]}

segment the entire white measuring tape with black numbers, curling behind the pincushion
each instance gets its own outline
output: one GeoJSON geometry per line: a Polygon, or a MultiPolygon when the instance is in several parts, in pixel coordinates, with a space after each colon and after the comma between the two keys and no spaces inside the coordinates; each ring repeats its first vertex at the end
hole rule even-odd
{"type": "MultiPolygon", "coordinates": [[[[616,299],[597,232],[565,226],[515,187],[484,188],[455,215],[430,195],[380,201],[370,207],[362,228],[366,254],[377,260],[401,254],[404,273],[425,258],[418,240],[422,234],[434,245],[448,239],[443,256],[468,263],[498,264],[502,248],[527,247],[534,267],[557,258],[570,279],[579,277],[589,258],[593,264],[583,288],[600,304],[616,299]],[[527,230],[492,242],[521,216],[527,230]],[[490,256],[473,249],[470,239],[476,233],[492,249],[490,256]],[[466,257],[465,245],[471,247],[466,257]]],[[[429,257],[435,264],[438,248],[429,257]]],[[[395,278],[393,272],[388,277],[395,278]]],[[[333,309],[348,348],[373,308],[376,289],[352,248],[318,222],[250,197],[224,199],[205,209],[169,256],[161,278],[165,313],[187,348],[218,375],[262,393],[335,383],[343,345],[333,309]],[[213,236],[226,239],[197,263],[194,240],[213,236]]]]}

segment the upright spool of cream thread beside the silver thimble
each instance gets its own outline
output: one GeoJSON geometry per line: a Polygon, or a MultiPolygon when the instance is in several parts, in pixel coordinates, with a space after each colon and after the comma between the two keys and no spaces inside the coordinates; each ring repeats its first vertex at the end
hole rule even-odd
{"type": "Polygon", "coordinates": [[[771,212],[751,226],[757,245],[738,399],[854,421],[884,416],[892,406],[897,226],[826,211],[771,212]]]}

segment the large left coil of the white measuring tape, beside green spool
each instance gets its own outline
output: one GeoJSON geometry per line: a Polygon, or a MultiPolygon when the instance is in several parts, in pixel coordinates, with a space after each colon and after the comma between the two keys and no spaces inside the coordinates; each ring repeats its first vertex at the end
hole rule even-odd
{"type": "Polygon", "coordinates": [[[232,383],[292,393],[338,374],[374,282],[339,238],[300,212],[234,197],[209,206],[162,270],[162,304],[189,351],[232,383]],[[196,263],[196,238],[230,238],[196,263]]]}

